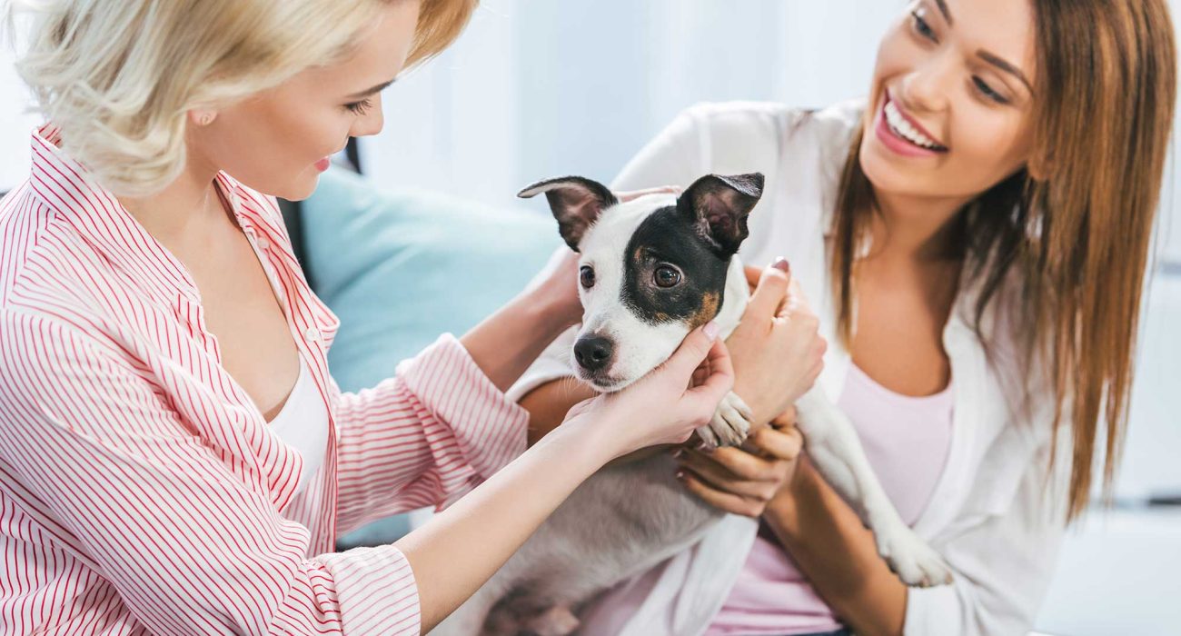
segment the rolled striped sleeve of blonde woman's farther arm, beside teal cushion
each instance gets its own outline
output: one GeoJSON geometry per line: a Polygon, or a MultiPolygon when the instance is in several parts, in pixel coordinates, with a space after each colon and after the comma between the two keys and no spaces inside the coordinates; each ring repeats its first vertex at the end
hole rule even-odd
{"type": "Polygon", "coordinates": [[[444,335],[372,389],[332,387],[338,530],[443,506],[524,452],[529,414],[444,335]]]}

